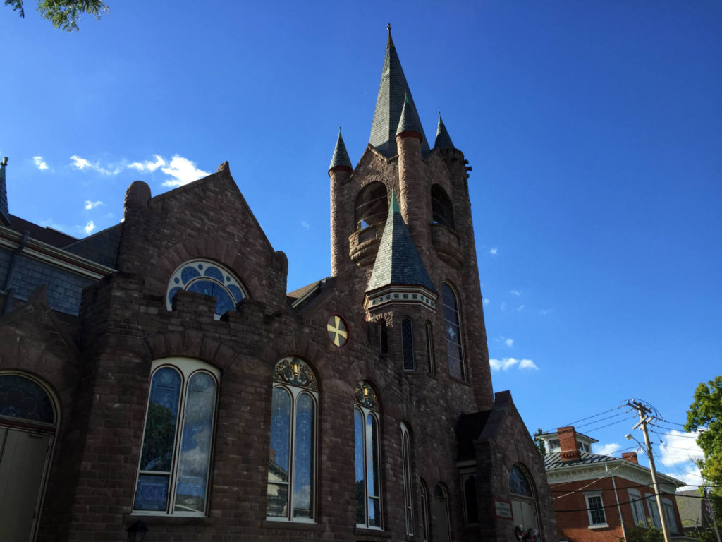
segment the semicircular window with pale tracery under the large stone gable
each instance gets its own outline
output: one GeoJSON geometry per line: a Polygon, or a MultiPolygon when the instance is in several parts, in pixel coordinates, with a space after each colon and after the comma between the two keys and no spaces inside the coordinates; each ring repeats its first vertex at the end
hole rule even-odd
{"type": "Polygon", "coordinates": [[[216,298],[216,316],[235,311],[236,305],[245,298],[240,280],[224,267],[204,259],[193,259],[179,266],[170,275],[165,304],[173,309],[173,296],[180,290],[204,293],[216,298]]]}

